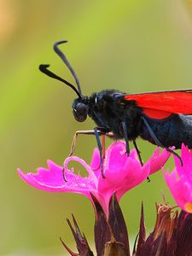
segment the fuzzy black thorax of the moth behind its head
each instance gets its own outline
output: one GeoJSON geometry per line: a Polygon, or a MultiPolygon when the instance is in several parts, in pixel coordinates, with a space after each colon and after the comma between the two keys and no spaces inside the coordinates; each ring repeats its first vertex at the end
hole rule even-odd
{"type": "Polygon", "coordinates": [[[89,115],[98,127],[112,131],[114,137],[124,138],[122,122],[127,127],[127,136],[130,140],[138,136],[141,125],[141,110],[135,102],[124,100],[124,93],[118,90],[102,90],[90,96],[89,115]]]}

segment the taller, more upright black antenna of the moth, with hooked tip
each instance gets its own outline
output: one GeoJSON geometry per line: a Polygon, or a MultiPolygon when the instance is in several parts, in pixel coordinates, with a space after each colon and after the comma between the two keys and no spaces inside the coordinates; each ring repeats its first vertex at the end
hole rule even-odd
{"type": "Polygon", "coordinates": [[[82,91],[81,91],[81,86],[80,86],[80,82],[79,82],[78,76],[76,75],[73,67],[71,66],[71,64],[67,60],[66,55],[64,55],[64,53],[61,51],[61,49],[58,48],[59,44],[65,44],[67,42],[68,42],[67,40],[62,40],[62,41],[56,42],[54,44],[54,50],[55,50],[55,53],[61,58],[61,60],[66,64],[66,66],[68,67],[68,69],[72,73],[73,79],[75,79],[75,82],[78,85],[79,94],[82,96],[82,91]]]}

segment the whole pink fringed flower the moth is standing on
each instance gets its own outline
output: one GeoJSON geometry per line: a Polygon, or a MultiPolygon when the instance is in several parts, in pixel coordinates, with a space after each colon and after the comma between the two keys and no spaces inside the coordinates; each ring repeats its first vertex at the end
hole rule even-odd
{"type": "Polygon", "coordinates": [[[51,192],[79,193],[87,196],[90,201],[92,201],[90,196],[90,193],[92,193],[108,216],[108,204],[113,192],[116,192],[119,201],[126,191],[142,183],[150,174],[159,171],[169,156],[170,153],[166,149],[160,153],[160,148],[157,148],[147,163],[141,166],[137,159],[136,149],[133,149],[130,156],[127,157],[125,142],[116,142],[109,146],[106,151],[105,160],[103,161],[105,177],[102,177],[101,174],[97,148],[94,150],[90,166],[77,156],[68,157],[65,160],[64,169],[67,182],[63,179],[62,167],[55,165],[51,160],[48,160],[48,170],[40,167],[37,173],[24,174],[20,169],[18,172],[26,183],[37,189],[51,192]],[[88,177],[75,174],[73,168],[69,170],[67,166],[71,161],[77,161],[84,166],[84,169],[88,172],[88,177]]]}

